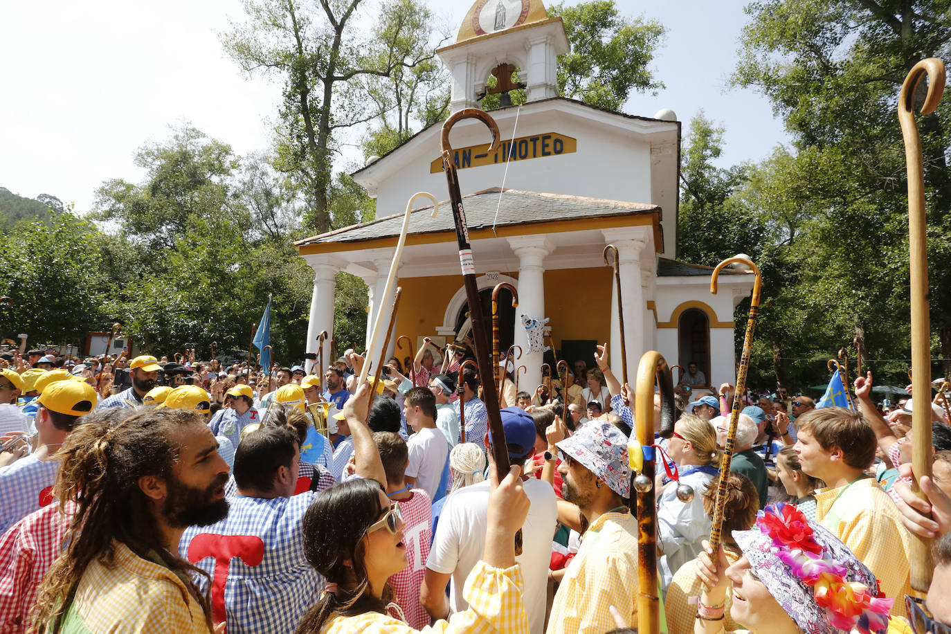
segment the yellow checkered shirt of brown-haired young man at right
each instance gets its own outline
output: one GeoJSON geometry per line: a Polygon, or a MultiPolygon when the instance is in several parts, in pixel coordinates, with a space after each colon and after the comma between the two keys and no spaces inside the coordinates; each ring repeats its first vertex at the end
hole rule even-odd
{"type": "Polygon", "coordinates": [[[816,519],[872,571],[884,595],[895,600],[892,616],[906,616],[904,595],[912,594],[908,579],[911,537],[902,526],[901,514],[874,478],[846,487],[816,490],[816,519]]]}

